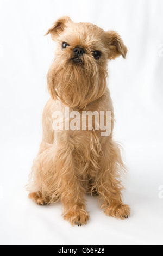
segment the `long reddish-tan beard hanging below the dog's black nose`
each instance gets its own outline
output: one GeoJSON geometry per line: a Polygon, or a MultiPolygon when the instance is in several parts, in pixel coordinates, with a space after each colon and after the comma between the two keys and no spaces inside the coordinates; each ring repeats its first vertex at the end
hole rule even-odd
{"type": "Polygon", "coordinates": [[[97,67],[89,56],[82,57],[78,64],[68,56],[59,56],[48,71],[48,88],[53,99],[58,97],[71,108],[83,109],[104,94],[106,76],[106,70],[97,67]]]}

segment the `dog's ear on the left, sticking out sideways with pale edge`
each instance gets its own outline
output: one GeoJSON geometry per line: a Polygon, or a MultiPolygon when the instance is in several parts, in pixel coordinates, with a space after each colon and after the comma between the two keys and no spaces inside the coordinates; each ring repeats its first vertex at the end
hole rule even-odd
{"type": "Polygon", "coordinates": [[[51,34],[52,39],[55,40],[56,38],[58,38],[58,36],[60,36],[61,32],[64,31],[68,23],[71,23],[71,22],[72,20],[70,19],[70,17],[68,16],[62,17],[57,21],[55,21],[53,26],[47,31],[45,35],[51,34]]]}

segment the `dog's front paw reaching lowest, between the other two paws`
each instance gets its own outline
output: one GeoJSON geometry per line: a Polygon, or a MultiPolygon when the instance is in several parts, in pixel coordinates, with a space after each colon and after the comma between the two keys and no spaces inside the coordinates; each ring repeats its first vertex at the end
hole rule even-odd
{"type": "Polygon", "coordinates": [[[64,215],[64,220],[69,221],[71,225],[82,226],[87,223],[89,217],[89,214],[85,210],[77,212],[68,211],[67,214],[64,215]]]}

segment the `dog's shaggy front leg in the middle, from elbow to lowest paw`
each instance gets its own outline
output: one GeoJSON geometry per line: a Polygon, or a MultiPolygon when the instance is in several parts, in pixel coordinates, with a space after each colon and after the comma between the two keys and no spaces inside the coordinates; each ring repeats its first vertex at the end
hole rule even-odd
{"type": "Polygon", "coordinates": [[[60,134],[57,140],[55,168],[58,173],[58,187],[64,206],[64,219],[72,225],[84,225],[89,219],[89,214],[85,205],[85,188],[78,176],[75,148],[65,133],[60,134]]]}

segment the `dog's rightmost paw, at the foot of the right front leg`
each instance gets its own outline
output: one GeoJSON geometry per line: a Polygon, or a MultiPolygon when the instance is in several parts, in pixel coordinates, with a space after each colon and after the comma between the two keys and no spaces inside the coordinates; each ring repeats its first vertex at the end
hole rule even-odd
{"type": "Polygon", "coordinates": [[[121,218],[124,220],[125,218],[128,218],[130,216],[130,208],[127,204],[119,204],[116,207],[108,206],[105,210],[105,214],[107,216],[112,216],[115,218],[121,218]]]}

